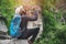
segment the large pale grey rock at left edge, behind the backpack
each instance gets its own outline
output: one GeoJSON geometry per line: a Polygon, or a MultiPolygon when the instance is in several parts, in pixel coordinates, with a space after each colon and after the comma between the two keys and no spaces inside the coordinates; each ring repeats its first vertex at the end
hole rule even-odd
{"type": "Polygon", "coordinates": [[[7,34],[8,28],[6,25],[7,19],[2,15],[0,15],[0,34],[7,34]]]}

